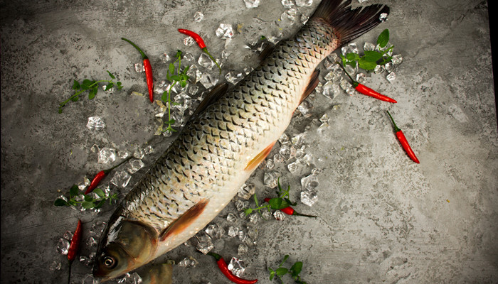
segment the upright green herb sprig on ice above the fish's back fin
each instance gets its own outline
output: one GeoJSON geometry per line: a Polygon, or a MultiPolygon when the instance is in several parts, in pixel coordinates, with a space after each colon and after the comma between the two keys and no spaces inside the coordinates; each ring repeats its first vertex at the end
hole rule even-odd
{"type": "Polygon", "coordinates": [[[164,91],[161,97],[161,100],[168,104],[168,121],[164,122],[165,124],[168,124],[168,127],[164,131],[170,132],[176,131],[171,127],[171,125],[175,123],[175,120],[171,119],[171,104],[176,104],[171,102],[171,89],[173,89],[176,84],[180,84],[182,88],[186,86],[189,80],[189,76],[186,75],[186,73],[189,72],[190,68],[190,66],[187,66],[184,70],[181,70],[181,50],[176,50],[176,58],[177,59],[174,62],[169,63],[166,73],[166,79],[168,79],[171,84],[169,85],[169,89],[167,91],[164,91]],[[175,67],[176,62],[178,62],[178,69],[176,69],[175,67]]]}

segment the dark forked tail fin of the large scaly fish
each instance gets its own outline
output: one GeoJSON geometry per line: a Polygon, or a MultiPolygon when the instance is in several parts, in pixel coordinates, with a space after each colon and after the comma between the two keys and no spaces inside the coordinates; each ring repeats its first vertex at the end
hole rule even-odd
{"type": "Polygon", "coordinates": [[[351,0],[322,0],[309,21],[323,19],[337,32],[340,45],[344,45],[375,28],[381,14],[389,13],[389,7],[379,4],[351,9],[351,0]]]}

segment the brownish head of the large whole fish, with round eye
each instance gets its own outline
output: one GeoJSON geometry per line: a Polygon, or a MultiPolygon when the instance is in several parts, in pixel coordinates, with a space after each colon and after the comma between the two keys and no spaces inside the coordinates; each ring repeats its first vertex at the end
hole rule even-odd
{"type": "Polygon", "coordinates": [[[154,259],[157,233],[147,224],[124,220],[108,226],[102,235],[93,275],[102,282],[119,277],[154,259]]]}

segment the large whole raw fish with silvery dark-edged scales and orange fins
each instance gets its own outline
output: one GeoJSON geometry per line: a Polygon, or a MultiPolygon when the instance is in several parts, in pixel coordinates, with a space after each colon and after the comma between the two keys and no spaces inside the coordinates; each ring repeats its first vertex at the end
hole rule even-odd
{"type": "Polygon", "coordinates": [[[117,205],[92,273],[117,278],[194,236],[233,199],[318,84],[322,60],[389,13],[374,4],[323,0],[289,39],[232,88],[218,85],[179,135],[117,205]]]}

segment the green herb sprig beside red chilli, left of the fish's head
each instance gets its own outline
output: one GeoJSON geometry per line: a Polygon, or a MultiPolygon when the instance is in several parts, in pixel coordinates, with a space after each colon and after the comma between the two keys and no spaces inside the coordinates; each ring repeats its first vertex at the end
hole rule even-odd
{"type": "Polygon", "coordinates": [[[92,197],[92,194],[85,195],[83,191],[78,188],[78,185],[73,185],[69,190],[69,198],[68,200],[63,200],[62,198],[58,198],[53,202],[55,206],[81,206],[85,209],[98,209],[102,207],[106,200],[109,200],[109,204],[112,204],[112,200],[117,200],[117,193],[113,195],[106,195],[103,190],[100,188],[95,188],[93,190],[97,195],[97,198],[92,197]],[[83,196],[83,200],[82,197],[83,196]]]}

